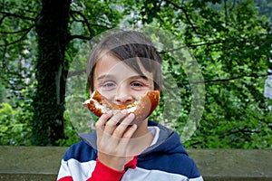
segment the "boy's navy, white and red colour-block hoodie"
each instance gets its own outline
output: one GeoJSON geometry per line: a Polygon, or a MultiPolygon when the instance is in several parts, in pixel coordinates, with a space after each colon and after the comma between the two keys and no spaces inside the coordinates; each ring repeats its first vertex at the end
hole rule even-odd
{"type": "Polygon", "coordinates": [[[157,128],[157,140],[126,164],[119,172],[97,159],[96,132],[80,134],[82,141],[71,146],[63,156],[58,181],[202,181],[199,170],[180,143],[180,136],[170,129],[149,121],[157,128]]]}

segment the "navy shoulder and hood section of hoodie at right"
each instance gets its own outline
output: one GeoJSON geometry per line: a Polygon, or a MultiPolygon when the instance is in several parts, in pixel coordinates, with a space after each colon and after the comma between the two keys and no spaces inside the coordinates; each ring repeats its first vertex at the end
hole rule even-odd
{"type": "Polygon", "coordinates": [[[194,178],[200,176],[195,161],[189,157],[187,150],[180,142],[177,132],[165,128],[160,124],[149,122],[151,126],[157,126],[162,135],[156,148],[151,148],[141,162],[141,167],[158,169],[167,173],[179,174],[194,178]]]}

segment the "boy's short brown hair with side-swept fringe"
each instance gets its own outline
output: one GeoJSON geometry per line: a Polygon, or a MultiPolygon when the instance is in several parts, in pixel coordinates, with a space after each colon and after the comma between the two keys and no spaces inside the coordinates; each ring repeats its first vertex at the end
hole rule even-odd
{"type": "Polygon", "coordinates": [[[154,90],[161,90],[161,57],[151,42],[143,33],[136,31],[121,31],[107,33],[102,41],[92,49],[87,66],[87,81],[93,91],[93,72],[95,64],[102,53],[111,53],[128,64],[134,71],[142,74],[139,61],[146,71],[152,72],[154,90]],[[138,61],[139,60],[139,61],[138,61]]]}

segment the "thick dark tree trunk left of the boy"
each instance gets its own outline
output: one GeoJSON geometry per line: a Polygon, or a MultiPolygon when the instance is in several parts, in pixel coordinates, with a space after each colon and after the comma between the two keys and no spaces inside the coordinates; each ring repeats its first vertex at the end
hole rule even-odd
{"type": "Polygon", "coordinates": [[[71,0],[42,0],[36,24],[38,54],[34,95],[33,144],[56,145],[64,138],[63,111],[67,62],[68,21],[71,0]]]}

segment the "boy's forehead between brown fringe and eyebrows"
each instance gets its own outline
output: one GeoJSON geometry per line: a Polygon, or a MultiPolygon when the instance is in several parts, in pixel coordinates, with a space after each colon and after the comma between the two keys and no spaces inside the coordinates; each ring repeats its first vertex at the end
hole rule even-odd
{"type": "MultiPolygon", "coordinates": [[[[136,61],[136,60],[135,60],[136,61]]],[[[152,73],[146,71],[141,62],[138,62],[141,72],[146,78],[152,80],[152,73]]],[[[94,70],[94,81],[99,77],[105,76],[114,76],[117,79],[128,79],[130,77],[139,76],[140,74],[137,71],[134,71],[128,63],[119,60],[117,57],[113,56],[110,53],[103,54],[100,59],[96,62],[94,70]]]]}

